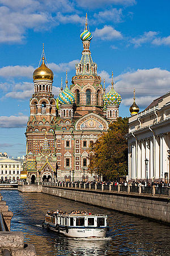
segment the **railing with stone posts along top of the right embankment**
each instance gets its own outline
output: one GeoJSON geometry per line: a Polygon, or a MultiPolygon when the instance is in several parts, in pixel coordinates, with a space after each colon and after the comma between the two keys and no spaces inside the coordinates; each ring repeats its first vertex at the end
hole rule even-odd
{"type": "Polygon", "coordinates": [[[126,193],[138,193],[139,195],[150,194],[155,195],[164,195],[170,196],[170,188],[168,187],[143,187],[143,186],[124,186],[124,185],[107,185],[107,184],[89,184],[89,183],[50,183],[44,182],[43,185],[46,186],[55,186],[55,187],[65,187],[65,188],[75,188],[75,189],[94,189],[99,191],[110,191],[110,192],[126,192],[126,193]]]}

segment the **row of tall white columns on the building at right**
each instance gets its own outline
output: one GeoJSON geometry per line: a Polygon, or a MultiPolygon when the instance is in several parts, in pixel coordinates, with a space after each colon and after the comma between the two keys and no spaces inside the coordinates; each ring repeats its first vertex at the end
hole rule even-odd
{"type": "Polygon", "coordinates": [[[169,172],[168,135],[160,134],[129,144],[129,178],[163,179],[169,172]],[[148,159],[146,170],[145,160],[148,159]]]}

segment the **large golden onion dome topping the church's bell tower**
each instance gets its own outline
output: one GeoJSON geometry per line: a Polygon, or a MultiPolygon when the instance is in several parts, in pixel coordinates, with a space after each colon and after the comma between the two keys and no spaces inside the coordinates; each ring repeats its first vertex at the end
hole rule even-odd
{"type": "Polygon", "coordinates": [[[54,78],[53,71],[51,69],[49,69],[48,67],[46,67],[46,65],[44,63],[44,59],[45,59],[44,56],[42,56],[41,66],[33,72],[33,80],[36,80],[36,79],[53,80],[53,78],[54,78]]]}

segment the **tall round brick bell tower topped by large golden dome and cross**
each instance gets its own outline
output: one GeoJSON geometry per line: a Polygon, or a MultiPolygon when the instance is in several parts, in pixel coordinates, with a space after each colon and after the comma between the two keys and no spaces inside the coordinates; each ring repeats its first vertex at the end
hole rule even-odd
{"type": "Polygon", "coordinates": [[[32,152],[33,155],[39,154],[45,133],[50,148],[55,153],[53,130],[56,123],[56,100],[52,93],[54,74],[48,68],[44,44],[40,63],[33,72],[34,93],[29,101],[30,116],[25,133],[27,139],[26,154],[32,152]]]}

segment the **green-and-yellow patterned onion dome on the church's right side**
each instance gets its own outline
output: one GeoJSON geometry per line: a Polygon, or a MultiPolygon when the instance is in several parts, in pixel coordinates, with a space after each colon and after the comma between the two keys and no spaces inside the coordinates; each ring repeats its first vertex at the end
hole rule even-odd
{"type": "Polygon", "coordinates": [[[103,100],[104,100],[104,109],[108,105],[119,106],[121,104],[122,98],[120,94],[118,94],[113,88],[113,72],[112,72],[112,88],[107,94],[103,96],[103,100]]]}

